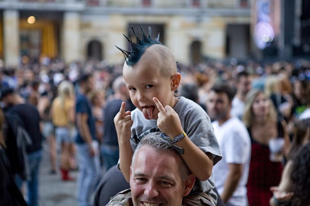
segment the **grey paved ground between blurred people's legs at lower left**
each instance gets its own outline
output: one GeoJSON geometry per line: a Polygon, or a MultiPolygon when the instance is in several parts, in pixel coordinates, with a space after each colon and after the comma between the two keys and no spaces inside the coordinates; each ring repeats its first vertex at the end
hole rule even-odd
{"type": "MultiPolygon", "coordinates": [[[[40,206],[75,206],[76,201],[76,181],[63,182],[60,180],[60,172],[49,174],[51,169],[47,145],[43,143],[43,158],[40,166],[39,176],[39,205],[40,206]]],[[[75,179],[78,172],[70,173],[75,179]]]]}

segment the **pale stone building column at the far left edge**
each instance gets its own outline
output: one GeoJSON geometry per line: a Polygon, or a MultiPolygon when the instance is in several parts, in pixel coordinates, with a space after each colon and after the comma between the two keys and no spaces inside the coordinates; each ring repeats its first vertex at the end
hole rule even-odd
{"type": "Polygon", "coordinates": [[[6,66],[19,64],[19,12],[17,10],[3,11],[4,61],[6,66]]]}

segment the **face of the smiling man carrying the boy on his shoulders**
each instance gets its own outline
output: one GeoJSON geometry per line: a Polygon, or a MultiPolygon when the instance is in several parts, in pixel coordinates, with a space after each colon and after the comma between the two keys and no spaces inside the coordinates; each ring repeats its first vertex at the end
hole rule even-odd
{"type": "Polygon", "coordinates": [[[180,206],[185,195],[181,157],[173,152],[157,152],[150,146],[137,152],[130,172],[134,206],[180,206]]]}

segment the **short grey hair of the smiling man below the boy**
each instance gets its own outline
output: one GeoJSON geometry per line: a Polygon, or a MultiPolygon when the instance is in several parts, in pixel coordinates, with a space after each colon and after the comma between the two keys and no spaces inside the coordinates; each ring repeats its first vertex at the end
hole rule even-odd
{"type": "MultiPolygon", "coordinates": [[[[141,141],[137,145],[137,148],[135,149],[135,152],[131,160],[131,170],[133,169],[133,165],[135,163],[135,158],[138,153],[138,150],[143,146],[151,146],[157,152],[174,152],[178,155],[180,155],[178,151],[182,150],[182,148],[172,143],[168,137],[166,137],[165,135],[162,135],[161,132],[149,133],[141,139],[141,141]]],[[[181,178],[183,181],[185,181],[188,175],[191,174],[191,171],[189,170],[188,166],[185,164],[183,158],[182,158],[182,163],[179,166],[179,168],[180,168],[181,178]]]]}

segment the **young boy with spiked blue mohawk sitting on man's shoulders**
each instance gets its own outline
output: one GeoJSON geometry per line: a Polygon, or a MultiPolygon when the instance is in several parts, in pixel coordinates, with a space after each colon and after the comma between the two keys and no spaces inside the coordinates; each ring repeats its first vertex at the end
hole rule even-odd
{"type": "Polygon", "coordinates": [[[172,52],[159,42],[159,35],[152,40],[151,28],[146,36],[140,25],[143,35],[140,39],[131,28],[137,43],[124,35],[132,50],[117,48],[126,58],[123,76],[131,101],[137,108],[132,112],[126,111],[126,103],[123,102],[114,118],[120,148],[118,169],[129,182],[136,145],[144,135],[161,131],[183,148],[181,156],[196,176],[193,192],[207,196],[206,200],[201,200],[206,202],[202,205],[216,205],[212,167],[222,157],[210,118],[198,104],[174,96],[181,75],[177,72],[172,52]]]}

